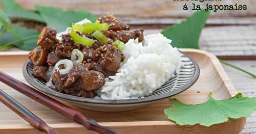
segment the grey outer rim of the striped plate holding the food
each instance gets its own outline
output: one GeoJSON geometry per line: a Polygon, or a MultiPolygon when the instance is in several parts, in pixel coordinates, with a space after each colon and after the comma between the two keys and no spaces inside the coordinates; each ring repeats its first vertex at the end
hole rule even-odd
{"type": "Polygon", "coordinates": [[[74,102],[82,102],[82,103],[93,103],[93,104],[137,104],[137,103],[147,103],[147,102],[153,102],[153,101],[158,101],[164,98],[172,97],[176,94],[182,93],[188,88],[190,88],[192,85],[194,85],[199,78],[200,75],[200,69],[197,64],[197,62],[191,58],[190,56],[186,55],[184,52],[181,52],[184,56],[186,56],[195,66],[194,72],[195,74],[193,77],[189,79],[187,84],[181,86],[180,88],[174,90],[173,92],[170,93],[165,93],[165,94],[160,94],[160,95],[155,95],[155,96],[148,96],[144,98],[136,98],[136,99],[117,99],[117,100],[112,100],[112,99],[94,99],[94,98],[84,98],[84,97],[77,97],[73,95],[68,95],[68,94],[63,94],[54,90],[49,90],[48,87],[42,86],[35,82],[32,77],[29,76],[28,71],[27,71],[27,66],[30,60],[28,59],[25,64],[23,65],[23,76],[25,77],[26,81],[33,86],[36,90],[46,93],[50,96],[57,97],[62,100],[68,100],[68,101],[74,101],[74,102]]]}

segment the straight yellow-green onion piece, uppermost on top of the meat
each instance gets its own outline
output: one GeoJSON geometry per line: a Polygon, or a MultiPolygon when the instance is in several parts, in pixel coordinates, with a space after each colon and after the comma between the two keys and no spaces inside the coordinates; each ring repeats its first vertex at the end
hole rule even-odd
{"type": "Polygon", "coordinates": [[[108,23],[100,23],[99,21],[95,21],[95,23],[84,23],[83,26],[83,33],[90,34],[94,31],[101,31],[101,30],[108,30],[109,24],[108,23]]]}

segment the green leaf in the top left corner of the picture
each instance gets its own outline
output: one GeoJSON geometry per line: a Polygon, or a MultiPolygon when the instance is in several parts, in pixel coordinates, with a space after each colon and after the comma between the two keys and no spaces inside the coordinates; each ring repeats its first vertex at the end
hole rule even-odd
{"type": "Polygon", "coordinates": [[[39,22],[45,22],[44,18],[42,18],[39,14],[33,11],[25,10],[14,0],[2,0],[2,8],[9,17],[24,18],[39,22]]]}

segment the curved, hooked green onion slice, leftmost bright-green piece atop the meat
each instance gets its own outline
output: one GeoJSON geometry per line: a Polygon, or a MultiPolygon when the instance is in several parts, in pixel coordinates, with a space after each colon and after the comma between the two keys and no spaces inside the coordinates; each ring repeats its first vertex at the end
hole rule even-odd
{"type": "Polygon", "coordinates": [[[82,37],[76,34],[76,32],[82,33],[83,32],[83,26],[80,24],[73,24],[70,31],[70,37],[74,40],[74,42],[86,46],[92,46],[92,44],[95,42],[95,40],[91,40],[87,37],[82,37]]]}

